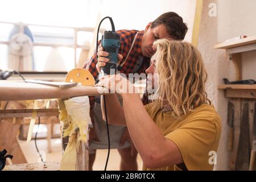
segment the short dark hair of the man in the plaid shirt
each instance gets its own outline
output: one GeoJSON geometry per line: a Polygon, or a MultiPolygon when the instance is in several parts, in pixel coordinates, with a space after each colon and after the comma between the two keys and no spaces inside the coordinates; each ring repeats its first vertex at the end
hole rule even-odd
{"type": "Polygon", "coordinates": [[[168,12],[160,15],[151,23],[151,28],[164,24],[166,30],[170,36],[175,40],[183,40],[188,27],[183,22],[181,16],[174,12],[168,12]]]}

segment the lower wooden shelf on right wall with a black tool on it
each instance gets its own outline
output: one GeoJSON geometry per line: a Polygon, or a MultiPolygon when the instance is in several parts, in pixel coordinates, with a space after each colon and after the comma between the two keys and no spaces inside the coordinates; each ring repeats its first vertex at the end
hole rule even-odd
{"type": "Polygon", "coordinates": [[[222,84],[218,85],[218,89],[225,90],[225,96],[229,98],[256,98],[256,84],[222,84]]]}

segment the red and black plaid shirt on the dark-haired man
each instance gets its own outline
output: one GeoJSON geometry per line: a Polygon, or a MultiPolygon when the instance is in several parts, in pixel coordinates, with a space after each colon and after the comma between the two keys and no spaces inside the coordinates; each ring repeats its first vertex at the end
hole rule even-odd
{"type": "MultiPolygon", "coordinates": [[[[120,36],[121,47],[119,48],[119,53],[123,56],[122,61],[125,60],[127,53],[130,50],[131,43],[133,42],[133,39],[137,32],[138,32],[137,30],[118,30],[117,31],[117,34],[119,34],[120,36]]],[[[143,59],[143,61],[137,73],[139,74],[144,73],[145,70],[149,67],[150,57],[144,57],[141,51],[141,42],[142,42],[143,35],[144,35],[144,31],[138,32],[133,49],[131,49],[130,55],[127,58],[125,64],[123,64],[120,73],[125,73],[126,76],[128,76],[129,73],[133,73],[135,65],[137,65],[139,59],[143,59]]],[[[98,44],[100,44],[100,41],[98,44]]],[[[120,65],[122,64],[122,61],[121,63],[119,63],[120,65]]],[[[88,69],[90,73],[92,73],[95,79],[98,77],[96,64],[97,64],[97,60],[96,60],[96,52],[95,52],[94,55],[90,58],[90,60],[87,61],[83,66],[83,68],[88,69]]],[[[90,108],[92,109],[94,106],[94,97],[89,97],[89,98],[90,98],[90,108]]]]}

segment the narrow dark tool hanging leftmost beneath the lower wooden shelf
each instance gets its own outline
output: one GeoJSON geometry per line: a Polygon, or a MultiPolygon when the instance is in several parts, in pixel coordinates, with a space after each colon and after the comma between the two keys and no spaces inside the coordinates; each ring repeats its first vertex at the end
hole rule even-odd
{"type": "Polygon", "coordinates": [[[234,105],[229,101],[228,103],[228,126],[229,126],[229,138],[228,138],[228,150],[233,150],[234,139],[234,105]]]}

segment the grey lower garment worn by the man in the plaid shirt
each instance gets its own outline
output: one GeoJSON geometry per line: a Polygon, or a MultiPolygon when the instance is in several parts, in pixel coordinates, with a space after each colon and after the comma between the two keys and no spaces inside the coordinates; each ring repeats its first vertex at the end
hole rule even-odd
{"type": "MultiPolygon", "coordinates": [[[[107,108],[108,109],[108,108],[107,108]]],[[[100,142],[92,140],[89,144],[89,154],[95,154],[97,149],[108,149],[108,133],[106,130],[106,122],[102,119],[101,105],[95,102],[94,108],[94,129],[100,142]]],[[[110,148],[127,148],[130,142],[127,140],[123,146],[119,146],[123,131],[126,126],[109,125],[110,148]]]]}

